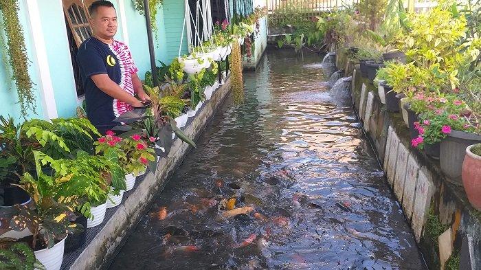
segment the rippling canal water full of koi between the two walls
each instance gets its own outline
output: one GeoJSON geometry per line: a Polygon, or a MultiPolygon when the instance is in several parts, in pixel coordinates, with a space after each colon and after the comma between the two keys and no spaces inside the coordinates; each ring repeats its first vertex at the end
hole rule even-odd
{"type": "Polygon", "coordinates": [[[111,269],[423,269],[320,59],[269,52],[245,74],[111,269]]]}

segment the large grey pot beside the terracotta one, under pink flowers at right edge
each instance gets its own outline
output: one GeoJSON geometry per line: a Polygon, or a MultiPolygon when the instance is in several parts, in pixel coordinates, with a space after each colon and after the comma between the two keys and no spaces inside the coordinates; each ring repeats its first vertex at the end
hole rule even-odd
{"type": "Polygon", "coordinates": [[[464,131],[451,131],[440,145],[439,163],[449,181],[461,185],[462,161],[466,148],[481,142],[481,135],[464,131]]]}

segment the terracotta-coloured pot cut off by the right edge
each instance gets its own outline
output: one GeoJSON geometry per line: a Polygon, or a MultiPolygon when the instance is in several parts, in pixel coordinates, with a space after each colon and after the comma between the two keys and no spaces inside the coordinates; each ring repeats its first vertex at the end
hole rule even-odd
{"type": "Polygon", "coordinates": [[[481,211],[481,157],[471,152],[473,145],[466,148],[462,164],[462,184],[465,187],[469,203],[481,211]]]}

